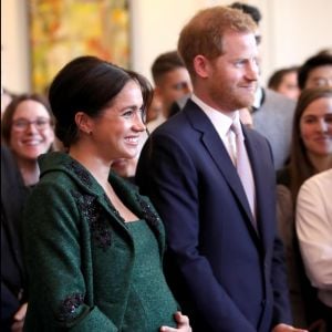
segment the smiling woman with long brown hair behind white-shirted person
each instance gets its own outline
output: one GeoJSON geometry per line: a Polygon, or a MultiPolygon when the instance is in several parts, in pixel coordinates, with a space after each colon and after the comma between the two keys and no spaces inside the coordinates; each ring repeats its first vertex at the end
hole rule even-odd
{"type": "Polygon", "coordinates": [[[305,326],[321,318],[315,290],[302,264],[295,236],[298,193],[311,176],[332,167],[332,89],[307,89],[298,101],[290,164],[278,172],[278,225],[286,247],[290,298],[294,320],[305,326]]]}

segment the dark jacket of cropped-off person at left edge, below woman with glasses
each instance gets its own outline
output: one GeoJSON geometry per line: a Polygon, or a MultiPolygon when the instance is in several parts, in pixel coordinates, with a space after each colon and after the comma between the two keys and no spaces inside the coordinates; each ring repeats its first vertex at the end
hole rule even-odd
{"type": "Polygon", "coordinates": [[[1,331],[10,331],[12,315],[24,298],[20,224],[25,195],[17,163],[1,145],[1,331]]]}

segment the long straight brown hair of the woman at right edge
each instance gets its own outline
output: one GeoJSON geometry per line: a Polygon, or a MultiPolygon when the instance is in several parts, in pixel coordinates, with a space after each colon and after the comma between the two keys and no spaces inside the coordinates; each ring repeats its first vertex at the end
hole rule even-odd
{"type": "Polygon", "coordinates": [[[290,155],[290,189],[292,193],[293,201],[295,201],[299,189],[304,183],[304,180],[319,172],[311,163],[307,153],[307,147],[301,138],[300,121],[307,107],[315,100],[323,97],[331,98],[332,89],[307,89],[301,93],[298,100],[293,118],[292,144],[290,155]]]}

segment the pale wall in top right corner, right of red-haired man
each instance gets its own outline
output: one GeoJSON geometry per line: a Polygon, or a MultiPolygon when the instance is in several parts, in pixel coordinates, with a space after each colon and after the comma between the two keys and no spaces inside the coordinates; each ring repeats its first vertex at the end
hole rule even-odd
{"type": "Polygon", "coordinates": [[[298,64],[332,48],[331,0],[269,1],[271,66],[298,64]]]}

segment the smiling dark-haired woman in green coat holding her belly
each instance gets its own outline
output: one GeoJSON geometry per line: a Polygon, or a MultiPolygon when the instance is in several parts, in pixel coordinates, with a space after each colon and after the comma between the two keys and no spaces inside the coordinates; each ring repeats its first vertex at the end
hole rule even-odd
{"type": "Polygon", "coordinates": [[[24,211],[29,277],[24,331],[190,331],[163,273],[162,220],[112,172],[135,157],[151,86],[94,56],[66,64],[50,86],[65,153],[39,159],[24,211]]]}

